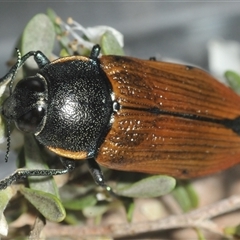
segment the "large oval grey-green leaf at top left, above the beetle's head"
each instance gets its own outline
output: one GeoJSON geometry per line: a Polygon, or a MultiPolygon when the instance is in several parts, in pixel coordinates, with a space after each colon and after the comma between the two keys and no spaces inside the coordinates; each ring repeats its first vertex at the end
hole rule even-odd
{"type": "MultiPolygon", "coordinates": [[[[46,56],[52,53],[55,41],[54,25],[45,14],[37,14],[26,25],[22,34],[22,53],[41,50],[46,56]]],[[[29,66],[29,62],[28,62],[29,66]]],[[[29,67],[34,67],[31,64],[29,67]]]]}

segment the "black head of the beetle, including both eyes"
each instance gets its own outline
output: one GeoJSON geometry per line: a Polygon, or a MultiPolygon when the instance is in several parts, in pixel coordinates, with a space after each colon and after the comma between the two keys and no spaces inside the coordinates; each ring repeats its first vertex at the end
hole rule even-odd
{"type": "Polygon", "coordinates": [[[3,116],[14,121],[23,132],[36,133],[42,127],[46,112],[47,89],[41,75],[18,82],[14,92],[3,103],[3,116]]]}

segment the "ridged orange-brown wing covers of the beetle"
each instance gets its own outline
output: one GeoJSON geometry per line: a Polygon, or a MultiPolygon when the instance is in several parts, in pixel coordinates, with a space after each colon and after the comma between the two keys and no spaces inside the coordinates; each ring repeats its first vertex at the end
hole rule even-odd
{"type": "Polygon", "coordinates": [[[108,168],[194,178],[240,161],[240,97],[195,67],[103,56],[122,108],[97,162],[108,168]]]}

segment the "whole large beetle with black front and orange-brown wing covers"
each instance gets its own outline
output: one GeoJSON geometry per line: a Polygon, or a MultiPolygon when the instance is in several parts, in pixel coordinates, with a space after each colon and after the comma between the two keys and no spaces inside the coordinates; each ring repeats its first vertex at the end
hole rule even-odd
{"type": "Polygon", "coordinates": [[[2,115],[50,151],[63,169],[17,170],[0,189],[27,176],[64,174],[87,160],[95,182],[107,187],[107,168],[195,178],[240,161],[240,97],[196,67],[101,56],[50,62],[24,55],[0,79],[13,78],[31,56],[36,75],[19,81],[2,115]]]}

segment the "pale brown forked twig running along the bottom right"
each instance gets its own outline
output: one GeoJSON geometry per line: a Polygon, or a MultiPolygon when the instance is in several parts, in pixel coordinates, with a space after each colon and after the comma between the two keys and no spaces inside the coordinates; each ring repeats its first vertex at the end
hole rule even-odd
{"type": "Polygon", "coordinates": [[[141,233],[160,231],[174,228],[198,227],[211,232],[224,235],[223,229],[218,227],[211,218],[234,211],[240,208],[240,195],[231,196],[209,206],[185,214],[170,216],[157,221],[112,224],[107,226],[79,227],[62,226],[48,223],[44,228],[46,237],[72,236],[82,238],[84,236],[133,236],[141,233]]]}

